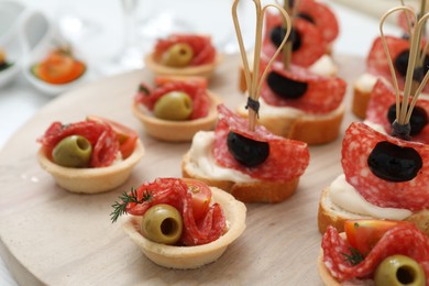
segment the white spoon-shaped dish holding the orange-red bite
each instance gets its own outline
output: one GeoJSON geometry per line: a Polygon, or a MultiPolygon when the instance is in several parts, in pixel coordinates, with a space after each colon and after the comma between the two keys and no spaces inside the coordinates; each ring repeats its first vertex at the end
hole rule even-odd
{"type": "Polygon", "coordinates": [[[73,48],[74,56],[86,64],[85,73],[77,79],[68,84],[53,85],[38,79],[32,73],[32,66],[46,57],[48,52],[67,43],[56,33],[53,24],[40,12],[29,14],[20,26],[22,45],[26,55],[23,59],[23,75],[25,79],[41,92],[55,97],[70,88],[84,82],[87,79],[88,62],[79,51],[73,48]]]}

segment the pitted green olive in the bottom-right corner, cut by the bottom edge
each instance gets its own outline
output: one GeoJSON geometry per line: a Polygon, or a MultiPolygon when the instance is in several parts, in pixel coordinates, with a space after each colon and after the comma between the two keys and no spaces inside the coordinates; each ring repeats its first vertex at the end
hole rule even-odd
{"type": "Polygon", "coordinates": [[[378,265],[374,282],[376,286],[424,286],[426,277],[420,264],[408,256],[398,254],[386,257],[378,265]]]}

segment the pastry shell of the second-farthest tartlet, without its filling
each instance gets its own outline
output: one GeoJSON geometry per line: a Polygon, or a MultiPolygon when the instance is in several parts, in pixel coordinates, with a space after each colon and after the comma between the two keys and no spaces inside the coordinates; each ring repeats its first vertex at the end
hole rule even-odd
{"type": "Polygon", "coordinates": [[[186,121],[172,121],[155,118],[152,112],[145,112],[140,103],[134,102],[134,116],[143,123],[146,133],[155,139],[170,142],[191,141],[200,130],[212,130],[218,120],[217,106],[221,102],[213,92],[207,90],[210,98],[210,110],[207,117],[186,121]]]}

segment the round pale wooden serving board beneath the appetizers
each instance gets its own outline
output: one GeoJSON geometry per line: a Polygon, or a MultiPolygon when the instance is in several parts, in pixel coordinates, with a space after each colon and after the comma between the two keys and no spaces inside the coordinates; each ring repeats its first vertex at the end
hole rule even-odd
{"type": "MultiPolygon", "coordinates": [[[[352,82],[364,69],[360,58],[338,56],[339,75],[352,82]]],[[[239,57],[228,57],[210,88],[235,108],[239,57]]],[[[194,271],[167,270],[148,261],[112,224],[111,205],[123,190],[156,177],[179,177],[189,143],[165,143],[145,135],[131,112],[147,70],[98,80],[52,101],[21,128],[0,153],[0,254],[22,285],[321,285],[316,258],[320,248],[317,209],[320,191],[342,170],[341,138],[311,146],[310,165],[296,195],[277,205],[248,205],[248,228],[215,263],[194,271]],[[55,185],[38,166],[36,138],[54,121],[73,122],[87,114],[107,117],[135,129],[146,154],[120,188],[101,195],[75,195],[55,185]]],[[[356,120],[350,113],[342,132],[356,120]]]]}

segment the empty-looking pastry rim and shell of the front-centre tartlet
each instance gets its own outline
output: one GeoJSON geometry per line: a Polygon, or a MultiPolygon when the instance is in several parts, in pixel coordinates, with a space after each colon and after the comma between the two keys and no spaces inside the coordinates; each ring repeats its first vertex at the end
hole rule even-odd
{"type": "Polygon", "coordinates": [[[230,194],[211,187],[212,200],[220,204],[228,221],[228,231],[218,240],[197,246],[174,246],[152,242],[140,232],[141,217],[132,217],[123,230],[152,262],[167,268],[198,268],[218,260],[228,245],[245,230],[246,208],[230,194]]]}

